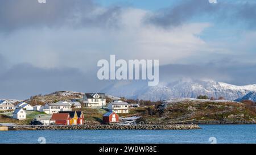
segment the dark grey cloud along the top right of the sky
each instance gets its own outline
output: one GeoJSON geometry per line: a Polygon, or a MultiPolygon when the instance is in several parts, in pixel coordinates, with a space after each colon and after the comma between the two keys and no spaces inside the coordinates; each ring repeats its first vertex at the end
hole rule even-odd
{"type": "Polygon", "coordinates": [[[218,22],[245,23],[250,28],[256,24],[256,3],[209,3],[207,0],[182,1],[176,6],[162,9],[145,19],[162,27],[176,27],[189,22],[194,17],[216,19],[218,22]]]}

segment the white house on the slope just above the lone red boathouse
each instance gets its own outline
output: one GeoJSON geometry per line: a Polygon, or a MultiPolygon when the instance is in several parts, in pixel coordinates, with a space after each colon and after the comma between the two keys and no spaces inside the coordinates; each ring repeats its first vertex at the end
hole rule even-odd
{"type": "Polygon", "coordinates": [[[115,113],[129,113],[129,104],[122,100],[115,100],[114,102],[109,103],[108,110],[115,113]]]}

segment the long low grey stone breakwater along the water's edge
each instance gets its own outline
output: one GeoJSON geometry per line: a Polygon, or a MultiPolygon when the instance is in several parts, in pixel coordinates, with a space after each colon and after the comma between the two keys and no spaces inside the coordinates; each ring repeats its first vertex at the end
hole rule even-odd
{"type": "Polygon", "coordinates": [[[104,130],[104,129],[141,129],[141,130],[176,130],[200,129],[196,124],[170,124],[170,125],[49,125],[32,126],[20,125],[10,127],[9,130],[104,130]]]}

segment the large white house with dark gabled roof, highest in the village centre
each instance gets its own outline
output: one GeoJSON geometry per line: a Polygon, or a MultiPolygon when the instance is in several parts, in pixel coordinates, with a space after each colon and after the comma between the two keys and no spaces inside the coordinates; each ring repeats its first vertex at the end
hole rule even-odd
{"type": "Polygon", "coordinates": [[[85,93],[85,107],[102,107],[106,106],[106,96],[104,93],[85,93]]]}

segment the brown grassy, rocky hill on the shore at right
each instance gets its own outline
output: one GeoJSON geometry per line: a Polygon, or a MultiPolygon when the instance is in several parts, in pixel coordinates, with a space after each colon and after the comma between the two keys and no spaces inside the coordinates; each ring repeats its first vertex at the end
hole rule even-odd
{"type": "Polygon", "coordinates": [[[182,100],[169,103],[164,110],[153,108],[138,122],[148,124],[233,124],[255,123],[256,114],[245,104],[207,100],[182,100]]]}

